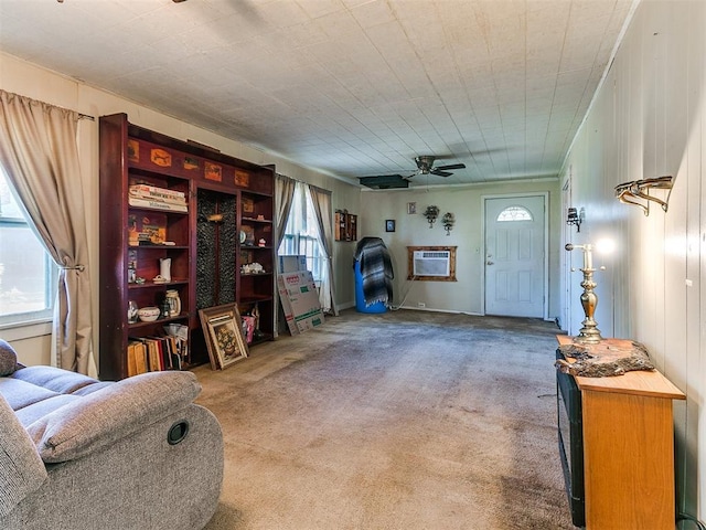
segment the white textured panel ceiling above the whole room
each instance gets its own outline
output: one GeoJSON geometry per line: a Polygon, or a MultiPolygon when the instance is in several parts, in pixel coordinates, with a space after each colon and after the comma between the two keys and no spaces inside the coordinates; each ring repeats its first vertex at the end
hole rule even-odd
{"type": "Polygon", "coordinates": [[[0,0],[0,50],[357,183],[555,177],[633,0],[0,0]]]}

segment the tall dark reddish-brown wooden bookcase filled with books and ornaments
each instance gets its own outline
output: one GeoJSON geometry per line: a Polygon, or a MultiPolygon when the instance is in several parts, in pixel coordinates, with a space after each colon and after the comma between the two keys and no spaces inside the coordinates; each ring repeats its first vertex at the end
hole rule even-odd
{"type": "Polygon", "coordinates": [[[176,140],[116,114],[100,118],[99,170],[101,379],[128,377],[131,339],[163,335],[169,324],[188,329],[186,365],[207,362],[199,309],[214,305],[254,311],[258,340],[274,337],[272,166],[176,140]],[[138,184],[146,193],[133,200],[138,184]],[[150,201],[150,191],[158,200],[150,201]],[[167,282],[160,277],[164,262],[167,282]],[[243,274],[252,263],[261,268],[243,274]],[[179,315],[128,321],[129,301],[161,307],[168,290],[179,295],[179,315]]]}

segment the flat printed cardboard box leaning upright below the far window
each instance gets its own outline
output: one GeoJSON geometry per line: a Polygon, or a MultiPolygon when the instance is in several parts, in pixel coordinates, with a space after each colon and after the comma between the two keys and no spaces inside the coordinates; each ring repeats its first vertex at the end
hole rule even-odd
{"type": "Polygon", "coordinates": [[[319,292],[309,271],[278,274],[277,290],[291,335],[303,333],[324,322],[319,292]]]}

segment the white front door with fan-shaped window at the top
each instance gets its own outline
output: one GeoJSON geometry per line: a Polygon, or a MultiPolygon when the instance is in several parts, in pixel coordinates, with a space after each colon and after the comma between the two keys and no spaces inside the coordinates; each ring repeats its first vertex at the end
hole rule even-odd
{"type": "Polygon", "coordinates": [[[485,199],[485,314],[544,317],[544,202],[485,199]]]}

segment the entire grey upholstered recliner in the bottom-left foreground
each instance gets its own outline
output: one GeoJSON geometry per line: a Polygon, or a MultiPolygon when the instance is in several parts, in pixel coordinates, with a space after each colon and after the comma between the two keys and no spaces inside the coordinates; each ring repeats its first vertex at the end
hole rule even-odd
{"type": "Polygon", "coordinates": [[[22,367],[0,341],[0,528],[203,528],[223,435],[191,372],[100,382],[22,367]]]}

